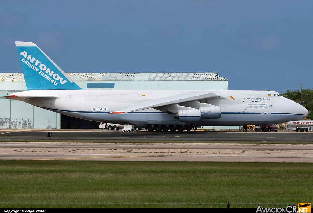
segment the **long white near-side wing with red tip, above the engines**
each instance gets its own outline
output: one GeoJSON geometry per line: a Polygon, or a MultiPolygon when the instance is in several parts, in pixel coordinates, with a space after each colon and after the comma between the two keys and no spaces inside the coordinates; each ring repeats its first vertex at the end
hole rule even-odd
{"type": "Polygon", "coordinates": [[[181,102],[195,101],[195,100],[201,100],[201,99],[213,98],[213,97],[217,97],[217,95],[214,94],[213,92],[207,92],[207,91],[186,92],[186,93],[181,93],[181,94],[177,94],[174,96],[158,98],[158,99],[153,99],[150,101],[142,102],[140,104],[136,104],[134,106],[126,107],[122,110],[110,112],[110,113],[114,114],[114,113],[133,112],[133,111],[139,111],[139,110],[149,109],[149,108],[158,107],[158,106],[177,104],[181,102]]]}

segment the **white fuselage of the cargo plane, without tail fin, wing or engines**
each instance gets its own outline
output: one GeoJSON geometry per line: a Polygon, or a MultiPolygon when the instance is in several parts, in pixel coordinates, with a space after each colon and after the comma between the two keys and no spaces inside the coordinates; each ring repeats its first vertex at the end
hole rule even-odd
{"type": "MultiPolygon", "coordinates": [[[[47,95],[55,98],[32,98],[24,100],[34,106],[85,120],[117,124],[135,124],[146,127],[150,124],[188,124],[173,118],[173,114],[154,108],[109,114],[141,102],[174,96],[190,91],[163,90],[31,90],[11,95],[47,95]]],[[[301,120],[308,111],[285,97],[275,96],[274,91],[208,91],[218,97],[200,100],[221,107],[218,119],[201,119],[194,126],[230,126],[276,124],[301,120]],[[271,94],[269,96],[268,94],[271,94]]]]}

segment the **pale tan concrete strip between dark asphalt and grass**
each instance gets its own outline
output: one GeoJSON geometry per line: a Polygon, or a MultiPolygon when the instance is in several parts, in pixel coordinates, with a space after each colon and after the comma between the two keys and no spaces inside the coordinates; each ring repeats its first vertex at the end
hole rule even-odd
{"type": "Polygon", "coordinates": [[[0,160],[313,162],[313,144],[1,142],[0,160]]]}

